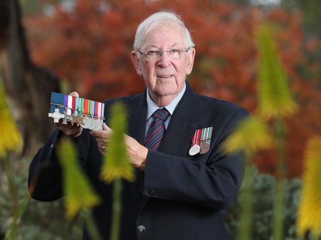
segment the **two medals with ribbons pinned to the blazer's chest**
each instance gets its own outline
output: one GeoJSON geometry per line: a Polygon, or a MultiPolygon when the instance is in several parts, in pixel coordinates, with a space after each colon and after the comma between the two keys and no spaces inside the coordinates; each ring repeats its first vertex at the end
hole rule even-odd
{"type": "Polygon", "coordinates": [[[204,154],[209,150],[211,144],[213,127],[198,129],[192,138],[192,145],[189,151],[191,156],[196,154],[204,154]]]}

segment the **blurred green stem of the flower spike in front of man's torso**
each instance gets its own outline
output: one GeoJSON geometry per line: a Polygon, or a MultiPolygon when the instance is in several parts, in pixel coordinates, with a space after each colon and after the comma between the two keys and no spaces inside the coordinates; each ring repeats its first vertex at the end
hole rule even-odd
{"type": "Polygon", "coordinates": [[[115,178],[113,182],[113,209],[110,240],[119,240],[120,214],[121,214],[121,178],[115,178]]]}

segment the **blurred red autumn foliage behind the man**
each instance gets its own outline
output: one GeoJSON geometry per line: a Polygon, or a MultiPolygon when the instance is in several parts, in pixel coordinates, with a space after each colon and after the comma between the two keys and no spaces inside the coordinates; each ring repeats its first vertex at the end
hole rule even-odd
{"type": "MultiPolygon", "coordinates": [[[[313,51],[320,42],[304,42],[299,12],[278,8],[266,13],[212,0],[78,0],[71,12],[56,5],[53,17],[25,19],[33,60],[53,69],[86,98],[100,101],[139,93],[145,84],[130,60],[134,34],[140,21],[164,8],[182,15],[196,43],[188,77],[193,89],[250,111],[257,104],[253,32],[262,21],[273,24],[280,58],[301,106],[286,121],[288,176],[300,176],[306,139],[321,134],[321,89],[313,75],[320,66],[308,66],[303,55],[303,49],[313,51]]],[[[275,152],[257,155],[256,163],[261,171],[274,172],[275,152]]]]}

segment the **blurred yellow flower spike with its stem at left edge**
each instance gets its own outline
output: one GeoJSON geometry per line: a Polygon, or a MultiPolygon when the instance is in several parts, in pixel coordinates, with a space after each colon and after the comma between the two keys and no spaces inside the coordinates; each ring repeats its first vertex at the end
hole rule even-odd
{"type": "Polygon", "coordinates": [[[19,206],[14,166],[11,165],[8,153],[10,151],[19,152],[21,150],[22,137],[6,104],[1,82],[2,80],[0,79],[0,163],[7,177],[12,201],[11,223],[6,232],[5,240],[15,240],[17,238],[18,222],[28,204],[29,194],[25,194],[26,197],[19,206]]]}

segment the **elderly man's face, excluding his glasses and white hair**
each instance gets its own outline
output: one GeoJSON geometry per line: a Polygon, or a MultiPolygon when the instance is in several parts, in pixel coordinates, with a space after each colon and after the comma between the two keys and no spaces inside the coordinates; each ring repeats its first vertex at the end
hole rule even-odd
{"type": "MultiPolygon", "coordinates": [[[[188,47],[181,27],[161,24],[149,32],[139,50],[144,53],[188,47]]],[[[162,52],[159,60],[147,61],[145,56],[138,58],[136,54],[136,51],[132,51],[132,61],[137,73],[144,77],[152,98],[167,96],[172,100],[183,89],[186,75],[192,71],[195,49],[182,52],[179,59],[170,59],[166,52],[162,52]]]]}

